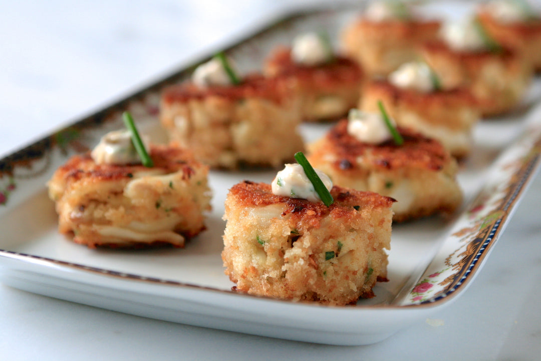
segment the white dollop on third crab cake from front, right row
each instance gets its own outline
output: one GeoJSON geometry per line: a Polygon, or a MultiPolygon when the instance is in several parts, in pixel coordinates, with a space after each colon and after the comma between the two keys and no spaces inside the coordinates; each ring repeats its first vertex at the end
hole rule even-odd
{"type": "Polygon", "coordinates": [[[414,89],[425,93],[434,91],[432,70],[423,62],[402,64],[388,79],[391,84],[401,89],[414,89]]]}

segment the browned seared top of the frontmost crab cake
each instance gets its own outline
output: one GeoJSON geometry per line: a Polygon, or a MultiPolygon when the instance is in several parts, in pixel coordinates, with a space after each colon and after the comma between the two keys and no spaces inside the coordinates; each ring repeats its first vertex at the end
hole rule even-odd
{"type": "Polygon", "coordinates": [[[241,206],[266,206],[272,204],[283,204],[285,209],[283,216],[292,215],[310,215],[323,216],[332,213],[334,216],[341,217],[352,210],[364,210],[373,208],[390,208],[395,200],[390,197],[384,197],[378,193],[364,192],[353,189],[333,186],[331,195],[334,203],[327,207],[322,202],[310,202],[307,199],[291,198],[286,196],[276,196],[273,194],[271,185],[267,183],[254,183],[243,181],[235,184],[230,190],[229,195],[236,198],[236,204],[241,206]]]}

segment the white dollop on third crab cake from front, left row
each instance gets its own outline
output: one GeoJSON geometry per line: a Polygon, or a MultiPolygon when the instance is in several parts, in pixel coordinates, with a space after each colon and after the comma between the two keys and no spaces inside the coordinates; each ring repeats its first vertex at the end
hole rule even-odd
{"type": "Polygon", "coordinates": [[[333,51],[322,35],[308,32],[293,39],[291,57],[298,64],[319,65],[332,59],[333,51]]]}

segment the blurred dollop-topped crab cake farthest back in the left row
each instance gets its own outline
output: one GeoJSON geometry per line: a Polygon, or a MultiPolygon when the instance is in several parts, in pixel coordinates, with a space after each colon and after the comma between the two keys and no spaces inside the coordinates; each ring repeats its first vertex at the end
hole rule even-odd
{"type": "Polygon", "coordinates": [[[419,58],[418,46],[436,39],[440,22],[415,16],[400,1],[379,1],[342,32],[342,46],[367,75],[386,76],[400,64],[419,58]]]}

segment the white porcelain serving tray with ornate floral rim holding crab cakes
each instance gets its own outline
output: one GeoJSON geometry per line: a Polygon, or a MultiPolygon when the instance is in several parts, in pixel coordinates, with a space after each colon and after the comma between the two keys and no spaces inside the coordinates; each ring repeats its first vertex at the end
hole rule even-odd
{"type": "MultiPolygon", "coordinates": [[[[254,71],[274,46],[288,44],[299,32],[324,28],[336,39],[357,14],[357,9],[341,8],[287,16],[226,51],[240,69],[254,71]]],[[[4,284],[171,322],[325,344],[370,344],[425,319],[464,292],[539,165],[541,82],[536,80],[515,112],[477,125],[472,155],[460,165],[465,202],[459,211],[448,218],[393,225],[390,281],[375,286],[375,298],[351,306],[294,303],[232,291],[234,284],[223,272],[220,255],[226,193],[243,179],[269,183],[276,170],[212,171],[208,229],[184,249],[95,250],[60,235],[45,186],[55,169],[71,155],[93,147],[105,132],[122,128],[124,110],[131,111],[142,132],[164,141],[157,120],[160,92],[182,82],[192,70],[193,66],[184,67],[0,159],[0,280],[4,284]]],[[[301,131],[311,141],[328,128],[305,124],[301,131]]]]}

